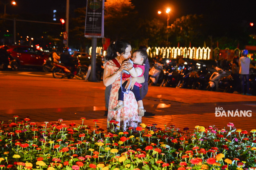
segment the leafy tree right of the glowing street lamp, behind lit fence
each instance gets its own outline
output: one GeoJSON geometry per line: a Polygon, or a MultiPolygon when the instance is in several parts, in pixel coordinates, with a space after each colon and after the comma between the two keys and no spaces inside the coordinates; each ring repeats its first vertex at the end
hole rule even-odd
{"type": "Polygon", "coordinates": [[[202,15],[187,15],[182,16],[174,21],[174,23],[168,28],[170,35],[175,35],[176,40],[181,42],[184,46],[188,46],[189,41],[196,45],[200,43],[198,40],[203,42],[203,16],[202,15]]]}

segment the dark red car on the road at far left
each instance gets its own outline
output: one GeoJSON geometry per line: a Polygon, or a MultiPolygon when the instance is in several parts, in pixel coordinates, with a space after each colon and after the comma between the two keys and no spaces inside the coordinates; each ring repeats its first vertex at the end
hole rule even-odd
{"type": "Polygon", "coordinates": [[[8,46],[8,51],[21,67],[39,68],[44,64],[44,59],[49,58],[44,52],[30,46],[8,46]]]}

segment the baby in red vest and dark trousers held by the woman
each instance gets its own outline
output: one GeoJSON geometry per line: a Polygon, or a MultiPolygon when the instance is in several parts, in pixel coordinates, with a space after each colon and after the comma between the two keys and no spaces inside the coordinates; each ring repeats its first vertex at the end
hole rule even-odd
{"type": "MultiPolygon", "coordinates": [[[[130,75],[127,74],[123,74],[122,79],[126,79],[127,77],[141,77],[144,74],[144,70],[145,70],[145,61],[148,58],[148,54],[147,51],[145,50],[135,50],[132,54],[132,63],[129,63],[128,68],[129,68],[129,73],[130,75]]],[[[122,88],[125,89],[125,85],[126,85],[127,81],[125,81],[122,84],[122,87],[120,87],[119,91],[118,91],[118,104],[117,107],[114,108],[114,111],[117,111],[121,108],[124,107],[123,104],[123,100],[124,100],[124,93],[122,91],[122,88]]],[[[136,98],[136,101],[138,102],[139,105],[139,113],[138,116],[144,116],[144,107],[143,107],[143,102],[141,99],[141,95],[139,94],[139,89],[142,87],[141,84],[139,83],[135,83],[135,85],[133,86],[133,89],[131,90],[134,93],[134,96],[136,98]]]]}

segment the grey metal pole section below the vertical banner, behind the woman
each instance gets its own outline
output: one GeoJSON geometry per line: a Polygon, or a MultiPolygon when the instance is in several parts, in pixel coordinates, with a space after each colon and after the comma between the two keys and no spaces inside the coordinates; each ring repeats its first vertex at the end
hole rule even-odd
{"type": "Polygon", "coordinates": [[[92,49],[91,49],[91,75],[90,81],[97,82],[96,78],[96,46],[97,38],[92,38],[92,49]]]}

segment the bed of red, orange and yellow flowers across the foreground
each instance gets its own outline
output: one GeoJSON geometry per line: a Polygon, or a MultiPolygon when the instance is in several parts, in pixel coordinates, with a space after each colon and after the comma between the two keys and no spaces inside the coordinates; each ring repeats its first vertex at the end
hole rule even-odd
{"type": "Polygon", "coordinates": [[[256,169],[256,130],[249,136],[232,123],[194,132],[156,124],[104,132],[97,120],[94,127],[62,119],[38,126],[14,118],[0,126],[1,169],[256,169]]]}

